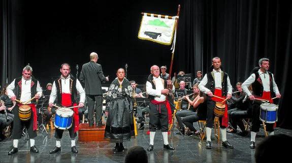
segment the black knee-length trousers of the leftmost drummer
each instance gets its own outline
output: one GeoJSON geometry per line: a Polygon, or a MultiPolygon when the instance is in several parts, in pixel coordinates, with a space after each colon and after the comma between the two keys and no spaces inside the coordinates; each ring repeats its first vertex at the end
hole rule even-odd
{"type": "Polygon", "coordinates": [[[27,133],[29,138],[37,137],[37,130],[34,131],[34,112],[31,110],[30,119],[27,121],[22,121],[19,119],[19,106],[15,105],[14,107],[14,127],[12,133],[12,139],[21,139],[22,129],[25,126],[27,129],[27,133]]]}

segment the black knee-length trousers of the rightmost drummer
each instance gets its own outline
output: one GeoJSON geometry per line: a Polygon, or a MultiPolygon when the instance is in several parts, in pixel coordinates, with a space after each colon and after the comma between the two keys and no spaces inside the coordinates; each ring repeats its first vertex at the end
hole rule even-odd
{"type": "MultiPolygon", "coordinates": [[[[259,113],[261,113],[261,103],[258,101],[254,101],[252,104],[252,122],[250,126],[250,131],[252,132],[259,132],[259,126],[263,123],[259,120],[259,113]]],[[[266,124],[266,131],[273,132],[274,131],[274,124],[275,123],[265,123],[266,124]]]]}

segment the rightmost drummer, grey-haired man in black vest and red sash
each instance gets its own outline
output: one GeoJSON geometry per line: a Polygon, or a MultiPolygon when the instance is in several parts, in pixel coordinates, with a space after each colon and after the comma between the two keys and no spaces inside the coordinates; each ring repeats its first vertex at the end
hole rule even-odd
{"type": "MultiPolygon", "coordinates": [[[[242,83],[242,90],[247,94],[252,103],[252,123],[250,126],[250,144],[249,148],[255,148],[255,136],[259,131],[260,121],[259,113],[261,112],[260,106],[262,101],[256,99],[268,100],[273,103],[272,97],[276,95],[277,98],[281,97],[278,86],[275,82],[274,75],[268,72],[270,68],[270,60],[268,58],[261,58],[258,60],[259,67],[256,67],[251,72],[252,74],[242,83]],[[249,91],[248,87],[251,84],[253,94],[249,91]]],[[[266,131],[269,135],[274,135],[274,123],[266,123],[266,131]]]]}

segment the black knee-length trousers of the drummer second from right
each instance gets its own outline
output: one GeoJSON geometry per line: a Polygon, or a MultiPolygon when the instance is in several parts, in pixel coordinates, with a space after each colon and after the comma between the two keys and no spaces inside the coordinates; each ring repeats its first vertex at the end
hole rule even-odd
{"type": "MultiPolygon", "coordinates": [[[[214,124],[214,107],[215,107],[215,102],[212,100],[207,100],[207,120],[206,120],[206,127],[212,128],[214,124]]],[[[222,117],[219,117],[219,122],[220,122],[220,128],[226,128],[226,126],[222,125],[222,117]]]]}

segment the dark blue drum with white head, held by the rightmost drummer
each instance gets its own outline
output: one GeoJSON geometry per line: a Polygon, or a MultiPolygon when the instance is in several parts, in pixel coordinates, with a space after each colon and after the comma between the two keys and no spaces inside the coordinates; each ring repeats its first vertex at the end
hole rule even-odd
{"type": "Polygon", "coordinates": [[[278,120],[278,106],[275,104],[264,103],[260,106],[259,119],[265,123],[275,123],[278,120]]]}

